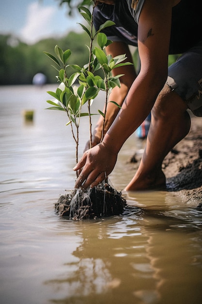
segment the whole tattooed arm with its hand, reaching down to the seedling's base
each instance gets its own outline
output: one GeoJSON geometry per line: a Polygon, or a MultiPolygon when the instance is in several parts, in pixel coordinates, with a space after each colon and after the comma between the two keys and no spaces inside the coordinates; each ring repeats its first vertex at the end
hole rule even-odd
{"type": "Polygon", "coordinates": [[[125,140],[151,111],[166,82],[171,34],[172,1],[145,0],[139,18],[138,46],[141,68],[101,144],[86,151],[76,187],[97,186],[113,170],[125,140]]]}

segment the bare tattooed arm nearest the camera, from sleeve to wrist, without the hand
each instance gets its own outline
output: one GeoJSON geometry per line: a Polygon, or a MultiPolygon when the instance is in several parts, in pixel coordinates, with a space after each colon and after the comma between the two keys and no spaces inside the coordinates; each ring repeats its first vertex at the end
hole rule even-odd
{"type": "Polygon", "coordinates": [[[169,1],[146,0],[140,13],[138,49],[140,73],[132,84],[118,117],[104,138],[106,146],[118,153],[125,140],[151,111],[166,82],[171,34],[169,1]],[[117,135],[119,140],[117,140],[117,135]]]}

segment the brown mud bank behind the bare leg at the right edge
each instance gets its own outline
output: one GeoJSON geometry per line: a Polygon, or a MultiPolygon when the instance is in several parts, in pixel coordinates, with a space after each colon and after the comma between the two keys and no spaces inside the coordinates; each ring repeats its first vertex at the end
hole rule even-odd
{"type": "MultiPolygon", "coordinates": [[[[131,158],[136,170],[140,157],[131,158]]],[[[162,169],[166,188],[181,197],[182,202],[202,206],[202,118],[191,116],[186,137],[168,153],[162,169]]]]}

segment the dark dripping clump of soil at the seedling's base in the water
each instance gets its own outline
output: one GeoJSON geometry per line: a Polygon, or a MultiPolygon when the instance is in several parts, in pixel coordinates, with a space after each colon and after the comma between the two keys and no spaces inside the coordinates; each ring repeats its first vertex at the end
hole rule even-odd
{"type": "Polygon", "coordinates": [[[122,192],[105,182],[86,190],[74,189],[62,195],[55,203],[59,215],[73,220],[120,215],[125,206],[122,192]]]}

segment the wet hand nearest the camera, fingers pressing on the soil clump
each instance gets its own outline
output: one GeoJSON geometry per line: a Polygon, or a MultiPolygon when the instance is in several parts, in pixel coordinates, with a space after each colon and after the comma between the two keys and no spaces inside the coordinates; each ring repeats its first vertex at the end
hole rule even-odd
{"type": "Polygon", "coordinates": [[[75,187],[88,188],[97,186],[114,169],[117,154],[109,150],[104,143],[100,143],[87,150],[73,170],[79,171],[75,187]]]}

